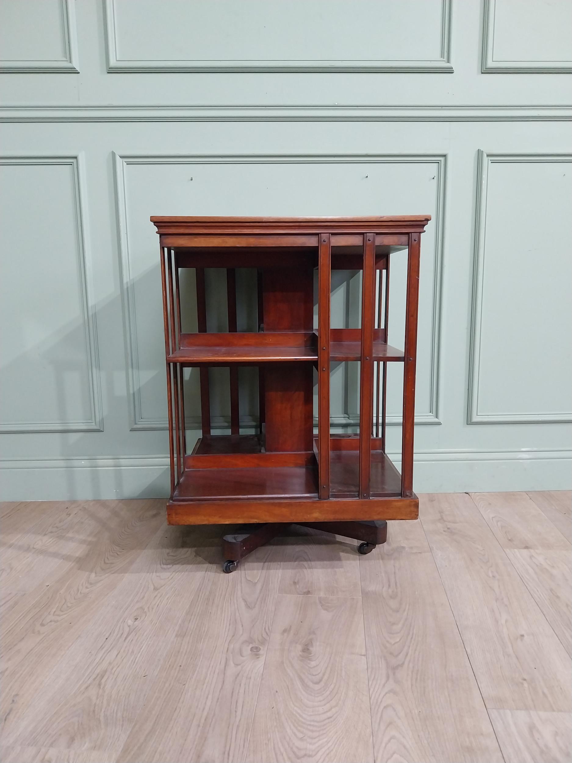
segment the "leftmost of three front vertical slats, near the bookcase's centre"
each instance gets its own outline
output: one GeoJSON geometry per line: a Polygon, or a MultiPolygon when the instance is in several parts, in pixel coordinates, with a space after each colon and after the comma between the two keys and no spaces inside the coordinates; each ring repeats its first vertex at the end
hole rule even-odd
{"type": "Polygon", "coordinates": [[[329,322],[332,279],[329,233],[320,235],[318,251],[318,494],[329,498],[329,322]]]}

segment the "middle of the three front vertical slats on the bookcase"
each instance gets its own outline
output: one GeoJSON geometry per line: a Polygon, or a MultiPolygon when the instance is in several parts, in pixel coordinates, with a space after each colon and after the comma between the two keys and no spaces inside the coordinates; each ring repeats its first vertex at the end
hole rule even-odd
{"type": "Polygon", "coordinates": [[[375,234],[364,236],[362,354],[359,376],[359,497],[370,497],[374,388],[375,234]]]}

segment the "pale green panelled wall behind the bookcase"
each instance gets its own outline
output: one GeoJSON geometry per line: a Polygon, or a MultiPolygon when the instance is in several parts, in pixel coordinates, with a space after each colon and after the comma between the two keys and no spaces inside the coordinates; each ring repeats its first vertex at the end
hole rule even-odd
{"type": "MultiPolygon", "coordinates": [[[[167,494],[150,214],[431,214],[416,491],[569,488],[571,21],[569,0],[2,0],[2,498],[167,494]]],[[[403,275],[396,255],[396,345],[403,275]]],[[[358,291],[334,275],[333,325],[358,325],[358,291]]],[[[207,292],[224,329],[220,273],[207,292]]],[[[356,381],[333,368],[337,430],[356,381]]],[[[187,399],[192,440],[192,373],[187,399]]]]}

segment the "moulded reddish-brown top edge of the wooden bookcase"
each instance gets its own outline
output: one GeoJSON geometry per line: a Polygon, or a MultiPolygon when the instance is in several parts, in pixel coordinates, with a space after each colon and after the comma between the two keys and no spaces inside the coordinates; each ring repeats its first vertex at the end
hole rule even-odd
{"type": "MultiPolygon", "coordinates": [[[[430,215],[395,215],[393,217],[162,217],[151,222],[159,235],[228,233],[423,233],[430,215]]],[[[304,246],[304,243],[300,242],[304,246]]],[[[314,246],[308,241],[307,246],[314,246]]]]}

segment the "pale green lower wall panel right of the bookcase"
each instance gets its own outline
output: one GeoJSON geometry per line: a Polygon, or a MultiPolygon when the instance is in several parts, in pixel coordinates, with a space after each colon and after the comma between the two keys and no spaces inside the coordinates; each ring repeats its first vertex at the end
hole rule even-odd
{"type": "Polygon", "coordinates": [[[468,423],[572,420],[572,156],[480,152],[468,423]]]}

